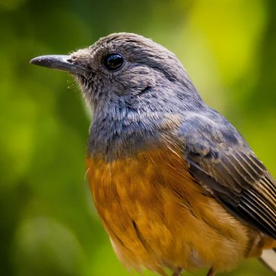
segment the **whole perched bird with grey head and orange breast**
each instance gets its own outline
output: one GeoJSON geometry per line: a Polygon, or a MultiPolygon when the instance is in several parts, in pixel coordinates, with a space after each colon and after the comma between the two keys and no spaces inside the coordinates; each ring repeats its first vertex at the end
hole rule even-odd
{"type": "Polygon", "coordinates": [[[88,182],[126,268],[213,276],[262,257],[276,271],[275,179],[175,54],[119,32],[30,63],[69,72],[92,112],[88,182]]]}

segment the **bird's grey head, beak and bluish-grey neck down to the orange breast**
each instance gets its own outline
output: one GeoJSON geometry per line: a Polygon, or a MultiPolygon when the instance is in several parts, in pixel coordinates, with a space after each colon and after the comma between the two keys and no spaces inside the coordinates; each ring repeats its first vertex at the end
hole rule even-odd
{"type": "Polygon", "coordinates": [[[183,112],[204,106],[177,57],[137,34],[110,34],[70,55],[30,62],[77,79],[93,111],[88,151],[109,159],[159,141],[183,112]]]}

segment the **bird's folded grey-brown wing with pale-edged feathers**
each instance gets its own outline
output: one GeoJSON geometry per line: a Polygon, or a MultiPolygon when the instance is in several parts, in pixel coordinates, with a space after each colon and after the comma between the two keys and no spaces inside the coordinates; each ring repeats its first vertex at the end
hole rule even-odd
{"type": "Polygon", "coordinates": [[[179,135],[195,180],[229,211],[276,239],[276,183],[239,132],[214,110],[186,116],[179,135]]]}

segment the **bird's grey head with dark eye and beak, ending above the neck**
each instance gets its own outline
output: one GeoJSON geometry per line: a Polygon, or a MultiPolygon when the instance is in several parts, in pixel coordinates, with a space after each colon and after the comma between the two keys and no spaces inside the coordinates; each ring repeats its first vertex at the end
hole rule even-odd
{"type": "Polygon", "coordinates": [[[30,62],[72,73],[92,109],[117,103],[141,110],[146,103],[158,110],[174,108],[179,99],[184,106],[199,101],[177,57],[138,34],[110,34],[71,55],[42,56],[30,62]]]}

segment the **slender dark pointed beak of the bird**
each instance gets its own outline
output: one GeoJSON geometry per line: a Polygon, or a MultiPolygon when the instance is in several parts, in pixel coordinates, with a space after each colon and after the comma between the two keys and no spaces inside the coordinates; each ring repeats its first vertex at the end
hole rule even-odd
{"type": "Polygon", "coordinates": [[[34,57],[34,59],[30,60],[30,63],[77,75],[83,75],[88,71],[83,66],[72,63],[71,57],[68,55],[47,55],[34,57]]]}

